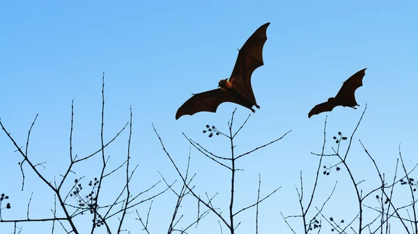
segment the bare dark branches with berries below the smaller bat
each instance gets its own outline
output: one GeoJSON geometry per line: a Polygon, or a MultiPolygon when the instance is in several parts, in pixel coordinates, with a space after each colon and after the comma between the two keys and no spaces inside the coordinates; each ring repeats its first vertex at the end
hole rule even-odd
{"type": "MultiPolygon", "coordinates": [[[[390,218],[395,218],[396,220],[401,222],[401,225],[405,229],[406,233],[417,233],[417,222],[416,222],[417,218],[415,215],[416,214],[415,203],[417,202],[417,200],[415,199],[414,192],[416,188],[418,187],[418,184],[415,183],[414,179],[409,178],[410,173],[415,170],[415,167],[417,167],[417,165],[415,165],[415,167],[413,167],[408,172],[408,170],[405,167],[405,164],[403,163],[401,151],[399,149],[399,158],[401,158],[405,176],[402,176],[402,178],[396,180],[397,169],[398,169],[398,160],[397,160],[393,181],[392,183],[387,183],[385,181],[385,174],[380,173],[380,169],[378,168],[376,160],[374,160],[374,158],[371,156],[369,151],[366,150],[366,147],[364,147],[364,144],[362,143],[362,141],[359,140],[359,143],[362,145],[364,151],[366,152],[366,155],[369,157],[369,159],[373,163],[373,167],[376,170],[378,177],[380,178],[380,185],[372,189],[369,189],[369,192],[364,193],[364,189],[360,187],[361,183],[364,180],[359,181],[356,178],[357,176],[353,173],[353,169],[351,169],[352,165],[350,165],[348,162],[348,159],[350,159],[350,157],[348,156],[349,156],[350,147],[352,146],[352,143],[353,143],[353,137],[357,131],[357,128],[359,128],[359,124],[362,122],[366,109],[367,109],[367,103],[366,103],[366,107],[364,108],[362,112],[361,117],[359,118],[359,121],[357,122],[357,125],[355,126],[353,133],[350,135],[350,140],[349,140],[348,146],[346,147],[346,151],[342,154],[340,153],[341,146],[342,146],[341,144],[345,140],[348,140],[348,137],[344,136],[343,133],[341,132],[338,132],[337,134],[338,136],[332,137],[332,139],[335,141],[335,144],[336,144],[336,148],[331,147],[334,153],[325,154],[325,142],[327,141],[327,135],[326,135],[327,117],[325,117],[324,132],[323,132],[324,140],[323,140],[322,152],[311,153],[315,156],[319,156],[319,163],[318,163],[318,169],[316,170],[314,187],[309,196],[308,205],[306,208],[304,208],[304,205],[303,205],[304,187],[303,187],[302,171],[301,171],[300,172],[300,191],[296,188],[297,194],[299,197],[301,214],[289,215],[285,217],[281,213],[281,216],[283,217],[284,222],[288,225],[288,227],[291,229],[293,233],[297,233],[297,231],[295,231],[295,228],[291,226],[291,224],[288,222],[288,219],[295,218],[295,217],[302,218],[303,230],[305,234],[310,233],[311,231],[314,231],[314,229],[317,229],[316,232],[320,233],[320,231],[323,230],[323,222],[321,222],[321,219],[324,219],[327,222],[327,224],[330,225],[330,231],[336,232],[336,233],[348,233],[348,230],[350,230],[350,233],[353,232],[357,234],[361,234],[364,231],[366,231],[367,233],[378,233],[378,232],[390,233],[390,230],[391,230],[390,229],[391,225],[389,223],[390,218]],[[311,214],[311,212],[309,212],[309,208],[311,208],[311,205],[314,203],[314,199],[316,198],[316,190],[317,190],[318,179],[320,175],[319,172],[320,172],[320,168],[323,163],[324,157],[327,157],[327,158],[336,157],[338,159],[338,162],[336,162],[334,165],[329,166],[329,167],[323,166],[323,169],[324,169],[323,175],[330,176],[332,170],[335,169],[336,172],[341,172],[341,171],[347,172],[347,175],[350,178],[351,185],[355,192],[355,197],[357,199],[358,212],[349,219],[350,220],[349,222],[346,222],[345,219],[339,219],[339,221],[337,222],[336,219],[334,219],[334,217],[330,215],[325,215],[323,211],[325,205],[330,201],[330,199],[332,198],[332,194],[334,194],[334,191],[336,190],[337,181],[332,189],[332,192],[330,192],[330,196],[327,197],[327,199],[325,199],[325,201],[322,203],[322,206],[320,208],[315,207],[316,212],[314,212],[314,215],[312,216],[312,218],[309,218],[309,214],[311,214]],[[408,182],[403,181],[404,179],[406,179],[406,181],[408,182]],[[397,184],[402,185],[402,183],[404,185],[406,184],[409,185],[412,201],[407,206],[395,206],[394,204],[395,201],[392,199],[392,196],[394,194],[394,187],[397,184]],[[387,190],[389,190],[389,194],[387,190]],[[380,191],[380,194],[376,195],[376,193],[378,193],[379,191],[380,191]],[[380,204],[378,209],[373,208],[372,206],[366,205],[366,199],[371,197],[371,195],[373,194],[375,194],[376,199],[378,200],[380,204]],[[412,214],[413,214],[412,219],[405,219],[401,215],[400,211],[408,207],[412,207],[412,214]],[[378,212],[378,215],[374,216],[371,220],[366,222],[364,220],[364,208],[369,208],[375,212],[378,212]],[[408,225],[406,224],[407,222],[412,224],[412,227],[413,227],[412,232],[409,230],[408,225]]],[[[344,187],[347,187],[347,185],[344,185],[344,187]]],[[[344,212],[343,214],[338,214],[338,215],[348,216],[349,214],[344,212]]]]}

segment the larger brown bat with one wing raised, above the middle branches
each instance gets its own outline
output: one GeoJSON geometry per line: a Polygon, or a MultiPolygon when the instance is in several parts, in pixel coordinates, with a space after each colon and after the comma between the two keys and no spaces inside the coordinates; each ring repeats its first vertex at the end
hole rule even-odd
{"type": "Polygon", "coordinates": [[[238,58],[229,80],[226,78],[219,81],[215,90],[192,94],[193,96],[178,108],[176,119],[183,115],[194,115],[196,112],[216,112],[218,106],[226,101],[249,108],[252,112],[256,112],[252,106],[260,108],[251,87],[251,75],[255,69],[264,65],[263,47],[269,25],[270,23],[267,23],[258,28],[238,50],[238,58]]]}

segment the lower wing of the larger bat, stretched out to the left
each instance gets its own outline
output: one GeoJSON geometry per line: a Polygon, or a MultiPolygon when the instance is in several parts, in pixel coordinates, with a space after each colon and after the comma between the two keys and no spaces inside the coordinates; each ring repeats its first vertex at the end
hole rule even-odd
{"type": "Polygon", "coordinates": [[[237,103],[241,106],[251,108],[249,103],[245,100],[235,97],[235,95],[217,88],[216,90],[209,90],[206,92],[201,92],[199,94],[193,94],[189,100],[183,103],[176,112],[176,119],[182,117],[183,115],[194,115],[197,112],[207,111],[207,112],[216,112],[218,106],[225,101],[237,103]]]}

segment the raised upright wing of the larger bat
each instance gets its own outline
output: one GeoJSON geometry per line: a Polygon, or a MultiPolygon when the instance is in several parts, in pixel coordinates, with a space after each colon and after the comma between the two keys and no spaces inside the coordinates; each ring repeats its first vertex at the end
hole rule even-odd
{"type": "Polygon", "coordinates": [[[256,104],[256,98],[251,87],[251,75],[255,69],[264,65],[263,47],[267,40],[267,28],[270,23],[258,28],[245,42],[233,67],[229,81],[243,94],[249,101],[256,104]]]}

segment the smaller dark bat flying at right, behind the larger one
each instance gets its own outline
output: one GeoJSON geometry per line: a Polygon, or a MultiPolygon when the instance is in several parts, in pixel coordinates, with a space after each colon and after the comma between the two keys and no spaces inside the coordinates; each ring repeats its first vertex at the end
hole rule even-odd
{"type": "Polygon", "coordinates": [[[314,108],[309,111],[308,117],[310,118],[312,115],[318,115],[321,112],[331,111],[336,106],[348,106],[350,108],[357,109],[355,106],[360,105],[357,104],[357,101],[355,101],[354,93],[358,87],[363,86],[363,77],[365,75],[364,71],[366,71],[366,69],[367,68],[359,70],[359,72],[350,76],[346,82],[343,82],[343,86],[335,97],[330,97],[328,101],[314,106],[314,108]]]}

